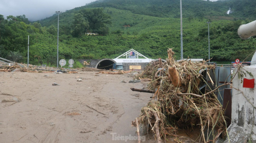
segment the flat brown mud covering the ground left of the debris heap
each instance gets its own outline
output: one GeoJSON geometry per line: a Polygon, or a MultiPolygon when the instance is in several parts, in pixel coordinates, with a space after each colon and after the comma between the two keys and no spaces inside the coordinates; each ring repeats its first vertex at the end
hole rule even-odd
{"type": "Polygon", "coordinates": [[[131,121],[152,94],[130,87],[147,83],[95,73],[0,72],[0,143],[112,143],[125,142],[112,140],[112,133],[136,136],[131,121]]]}

